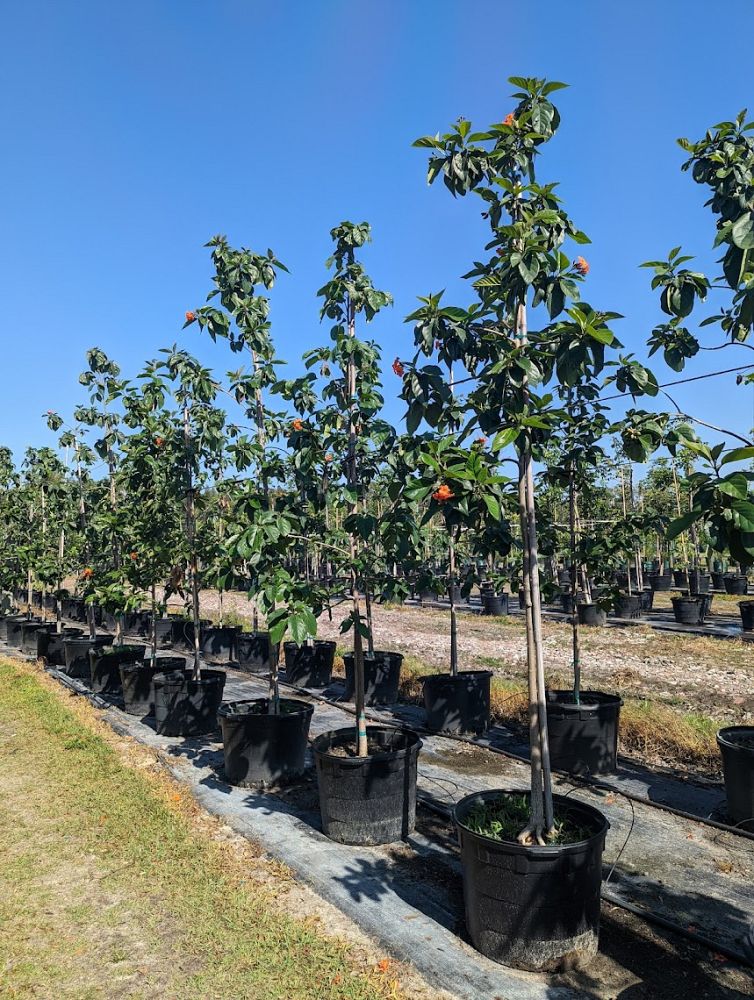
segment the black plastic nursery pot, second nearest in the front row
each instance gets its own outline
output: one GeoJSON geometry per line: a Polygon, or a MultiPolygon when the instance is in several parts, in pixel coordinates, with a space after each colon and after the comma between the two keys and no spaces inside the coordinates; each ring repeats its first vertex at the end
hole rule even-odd
{"type": "Polygon", "coordinates": [[[367,726],[370,754],[351,756],[356,730],[336,729],[313,744],[322,829],[340,844],[391,844],[416,823],[416,763],[422,741],[410,730],[367,726]]]}

